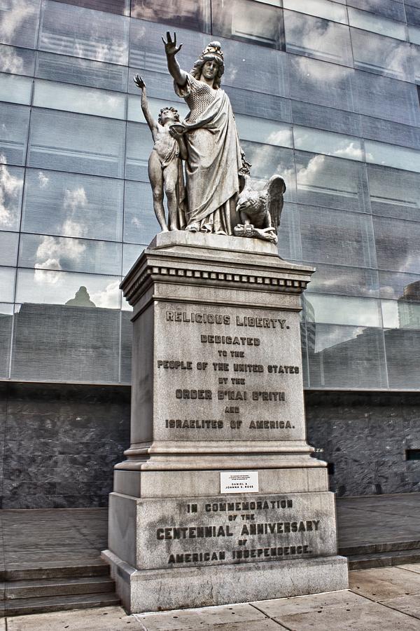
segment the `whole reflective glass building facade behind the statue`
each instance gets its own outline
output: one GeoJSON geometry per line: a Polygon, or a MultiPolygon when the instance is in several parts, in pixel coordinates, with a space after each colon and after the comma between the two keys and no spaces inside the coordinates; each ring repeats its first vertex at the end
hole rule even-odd
{"type": "Polygon", "coordinates": [[[279,252],[314,264],[307,389],[420,386],[419,0],[0,0],[0,379],[130,384],[121,278],[158,231],[154,114],[211,39],[279,252]]]}

